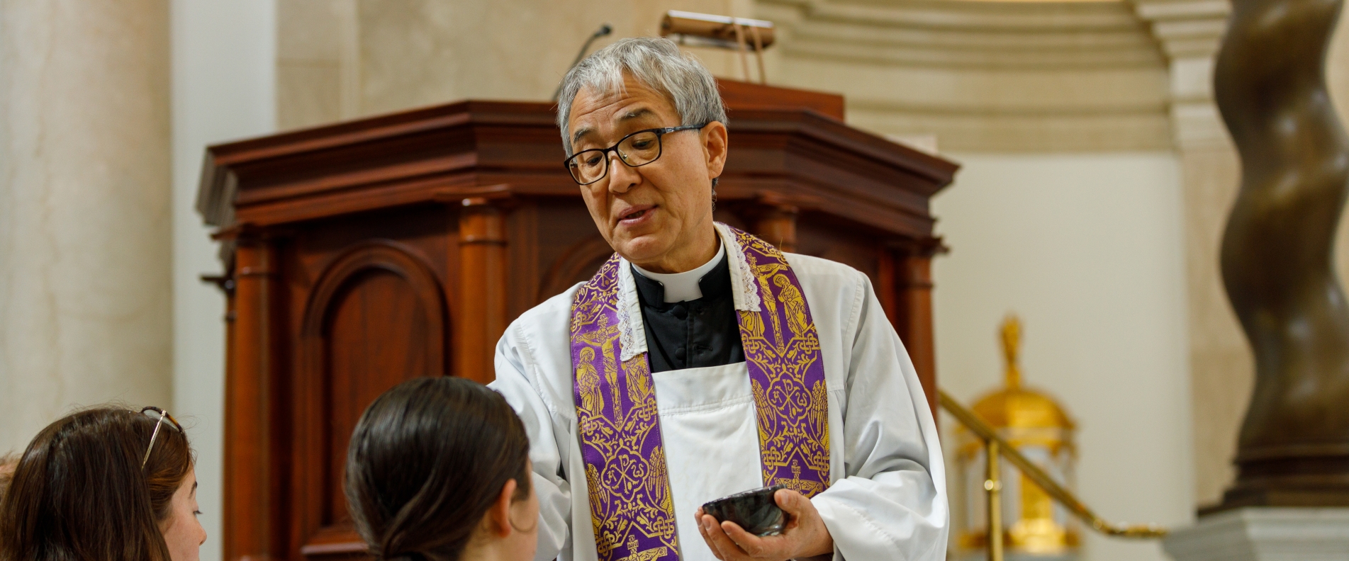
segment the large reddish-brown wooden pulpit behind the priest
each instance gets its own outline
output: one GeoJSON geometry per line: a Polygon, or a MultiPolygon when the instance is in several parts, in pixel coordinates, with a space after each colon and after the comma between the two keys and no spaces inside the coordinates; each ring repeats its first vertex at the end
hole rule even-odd
{"type": "MultiPolygon", "coordinates": [[[[956,166],[843,124],[839,96],[723,94],[716,220],[866,272],[935,399],[928,198],[956,166]]],[[[553,111],[463,101],[206,150],[198,209],[228,294],[227,560],[360,557],[341,477],[366,405],[415,376],[490,382],[506,325],[611,255],[553,111]]]]}

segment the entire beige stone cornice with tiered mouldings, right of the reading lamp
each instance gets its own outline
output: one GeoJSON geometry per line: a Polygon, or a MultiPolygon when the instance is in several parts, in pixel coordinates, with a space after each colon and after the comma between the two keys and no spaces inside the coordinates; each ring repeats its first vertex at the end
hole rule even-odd
{"type": "Polygon", "coordinates": [[[769,77],[943,150],[1172,147],[1167,55],[1125,1],[755,0],[769,77]]]}

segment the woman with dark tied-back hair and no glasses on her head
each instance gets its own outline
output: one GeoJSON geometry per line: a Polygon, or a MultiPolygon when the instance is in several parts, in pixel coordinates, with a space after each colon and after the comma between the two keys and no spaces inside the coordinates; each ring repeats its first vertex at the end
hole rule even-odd
{"type": "Polygon", "coordinates": [[[530,560],[538,499],[529,438],[506,399],[460,378],[418,378],[360,415],[347,500],[378,560],[530,560]]]}

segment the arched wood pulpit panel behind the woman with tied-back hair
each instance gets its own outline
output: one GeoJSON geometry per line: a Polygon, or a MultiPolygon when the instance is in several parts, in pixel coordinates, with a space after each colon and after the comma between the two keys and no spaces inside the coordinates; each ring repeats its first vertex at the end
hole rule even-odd
{"type": "Polygon", "coordinates": [[[302,317],[294,392],[293,530],[308,557],[345,553],[339,543],[355,538],[341,481],[360,414],[403,380],[447,375],[448,341],[444,290],[411,248],[362,241],[318,276],[302,317]]]}

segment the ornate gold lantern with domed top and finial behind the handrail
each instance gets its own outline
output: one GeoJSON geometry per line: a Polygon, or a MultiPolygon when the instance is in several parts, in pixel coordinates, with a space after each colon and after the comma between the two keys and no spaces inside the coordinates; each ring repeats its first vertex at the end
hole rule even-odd
{"type": "MultiPolygon", "coordinates": [[[[1020,344],[1021,322],[1008,316],[1002,322],[1006,386],[979,399],[974,413],[1056,483],[1071,490],[1077,464],[1072,419],[1054,398],[1021,386],[1020,344]]],[[[985,452],[982,440],[965,426],[958,429],[956,475],[966,512],[958,534],[962,557],[975,557],[987,548],[985,452]]],[[[1000,480],[1002,545],[1008,558],[1075,560],[1079,535],[1070,512],[1014,465],[1004,464],[1000,480]]]]}

